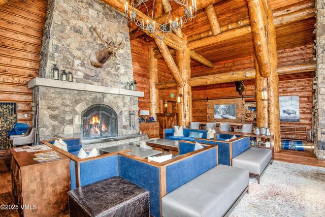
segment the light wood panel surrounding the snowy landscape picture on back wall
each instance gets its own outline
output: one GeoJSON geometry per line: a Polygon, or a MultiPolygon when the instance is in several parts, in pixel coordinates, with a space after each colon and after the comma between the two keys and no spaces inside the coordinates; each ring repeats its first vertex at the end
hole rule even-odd
{"type": "Polygon", "coordinates": [[[245,121],[245,101],[240,99],[209,100],[207,103],[208,122],[242,122],[245,121]],[[236,119],[216,119],[214,118],[214,105],[236,105],[236,119]]]}

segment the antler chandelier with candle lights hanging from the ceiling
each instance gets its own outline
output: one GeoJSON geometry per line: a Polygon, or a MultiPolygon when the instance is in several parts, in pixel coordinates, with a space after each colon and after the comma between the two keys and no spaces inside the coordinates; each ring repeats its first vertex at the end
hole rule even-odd
{"type": "Polygon", "coordinates": [[[148,0],[131,0],[131,11],[129,11],[129,5],[126,1],[124,14],[129,22],[132,22],[135,25],[139,26],[147,35],[154,35],[161,42],[161,40],[165,39],[170,32],[181,29],[185,23],[191,21],[194,17],[197,16],[197,1],[191,1],[192,4],[189,6],[188,0],[169,0],[169,2],[175,2],[181,5],[184,11],[184,15],[176,18],[175,20],[172,20],[172,6],[170,5],[169,15],[167,16],[165,23],[155,23],[154,21],[153,9],[155,6],[155,0],[153,0],[151,16],[149,15],[149,10],[146,5],[146,2],[148,2],[148,0]],[[140,11],[141,6],[146,8],[147,16],[150,20],[143,20],[141,17],[139,17],[137,11],[140,11]],[[135,9],[137,9],[137,11],[135,9]]]}

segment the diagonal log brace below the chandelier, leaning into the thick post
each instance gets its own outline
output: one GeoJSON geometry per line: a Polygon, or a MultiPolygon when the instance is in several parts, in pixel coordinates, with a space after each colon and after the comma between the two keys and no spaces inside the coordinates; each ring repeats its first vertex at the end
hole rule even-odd
{"type": "Polygon", "coordinates": [[[184,85],[184,81],[180,75],[180,72],[175,64],[172,54],[169,52],[167,45],[164,42],[160,42],[159,39],[155,39],[155,42],[160,50],[161,55],[163,55],[166,65],[175,79],[178,87],[184,85]]]}

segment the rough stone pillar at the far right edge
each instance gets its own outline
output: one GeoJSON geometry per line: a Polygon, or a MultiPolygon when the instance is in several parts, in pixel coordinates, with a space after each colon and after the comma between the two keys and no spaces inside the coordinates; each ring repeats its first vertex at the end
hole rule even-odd
{"type": "Polygon", "coordinates": [[[314,152],[325,159],[325,1],[316,1],[316,59],[314,78],[314,152]]]}

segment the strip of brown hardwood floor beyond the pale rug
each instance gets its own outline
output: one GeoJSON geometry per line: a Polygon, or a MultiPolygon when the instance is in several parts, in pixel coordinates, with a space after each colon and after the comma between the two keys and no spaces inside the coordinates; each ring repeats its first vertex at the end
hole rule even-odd
{"type": "Polygon", "coordinates": [[[282,150],[274,153],[274,158],[288,163],[325,167],[325,160],[319,160],[315,154],[306,151],[282,150]]]}

